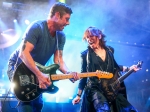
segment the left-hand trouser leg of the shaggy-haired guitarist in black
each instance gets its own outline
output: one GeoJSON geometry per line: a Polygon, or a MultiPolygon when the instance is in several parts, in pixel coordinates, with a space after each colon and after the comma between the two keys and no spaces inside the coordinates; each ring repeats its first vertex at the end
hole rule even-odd
{"type": "Polygon", "coordinates": [[[80,112],[111,112],[104,95],[96,89],[88,89],[83,95],[80,112]]]}

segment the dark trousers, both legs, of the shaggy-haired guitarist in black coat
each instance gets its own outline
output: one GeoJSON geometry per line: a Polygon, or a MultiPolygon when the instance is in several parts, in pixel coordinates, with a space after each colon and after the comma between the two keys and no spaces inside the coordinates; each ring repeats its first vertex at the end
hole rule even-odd
{"type": "Polygon", "coordinates": [[[101,91],[88,89],[83,95],[80,112],[137,112],[137,110],[122,94],[118,94],[116,100],[109,104],[101,91]]]}

